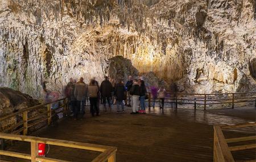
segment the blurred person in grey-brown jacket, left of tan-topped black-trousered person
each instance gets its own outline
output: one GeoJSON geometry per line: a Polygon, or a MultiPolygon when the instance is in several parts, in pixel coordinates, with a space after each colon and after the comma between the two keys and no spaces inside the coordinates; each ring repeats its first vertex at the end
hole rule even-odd
{"type": "Polygon", "coordinates": [[[74,94],[77,100],[77,106],[75,109],[74,118],[78,119],[79,115],[81,115],[81,118],[82,118],[85,114],[85,109],[84,109],[85,98],[88,94],[88,85],[85,84],[84,78],[81,77],[80,80],[76,83],[74,94]]]}

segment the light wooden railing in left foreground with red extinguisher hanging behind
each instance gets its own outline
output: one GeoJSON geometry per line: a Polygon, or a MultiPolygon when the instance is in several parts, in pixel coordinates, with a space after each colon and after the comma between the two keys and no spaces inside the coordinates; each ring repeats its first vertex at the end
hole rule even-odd
{"type": "Polygon", "coordinates": [[[10,151],[0,151],[0,155],[18,157],[21,159],[28,159],[28,160],[31,160],[32,162],[36,162],[36,161],[71,162],[71,161],[64,161],[61,159],[52,159],[49,157],[38,156],[38,143],[45,143],[45,144],[51,144],[54,146],[78,148],[78,149],[86,149],[86,150],[90,150],[90,151],[102,152],[100,155],[98,155],[96,157],[96,159],[92,160],[93,162],[105,162],[105,161],[115,162],[115,152],[117,151],[117,148],[110,147],[110,146],[101,146],[98,144],[72,142],[72,141],[67,141],[67,140],[38,138],[38,137],[34,137],[34,136],[24,136],[24,135],[0,133],[0,138],[30,142],[31,154],[10,152],[10,151]]]}

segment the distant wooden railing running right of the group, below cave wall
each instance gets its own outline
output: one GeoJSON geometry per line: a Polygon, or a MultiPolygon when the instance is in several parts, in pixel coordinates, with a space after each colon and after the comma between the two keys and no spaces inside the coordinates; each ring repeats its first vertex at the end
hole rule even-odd
{"type": "MultiPolygon", "coordinates": [[[[178,108],[178,104],[193,105],[194,109],[197,109],[197,105],[203,105],[204,110],[207,110],[207,105],[230,104],[232,105],[232,109],[234,109],[235,103],[243,103],[243,102],[248,102],[248,103],[255,102],[255,109],[256,109],[256,92],[210,93],[210,94],[167,93],[167,97],[165,99],[166,101],[164,103],[172,103],[175,105],[176,109],[178,108]],[[250,96],[243,97],[243,95],[250,95],[250,96]]],[[[152,102],[151,92],[148,92],[148,107],[151,107],[151,102],[152,102]]],[[[160,101],[155,101],[155,102],[160,102],[160,101]]]]}

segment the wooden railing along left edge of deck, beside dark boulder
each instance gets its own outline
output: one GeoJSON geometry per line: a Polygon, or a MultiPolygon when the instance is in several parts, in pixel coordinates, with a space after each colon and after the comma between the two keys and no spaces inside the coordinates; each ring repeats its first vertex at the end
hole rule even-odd
{"type": "Polygon", "coordinates": [[[19,110],[15,113],[12,113],[10,115],[6,115],[5,117],[0,118],[0,123],[4,122],[6,120],[10,120],[11,118],[15,118],[17,121],[18,117],[22,117],[22,121],[17,122],[13,126],[10,126],[8,128],[5,128],[2,132],[9,132],[11,134],[19,134],[20,132],[23,132],[23,135],[27,135],[28,128],[35,126],[36,124],[46,122],[47,124],[51,124],[52,122],[52,104],[58,104],[55,111],[63,108],[63,110],[59,111],[59,113],[63,113],[65,116],[67,114],[67,99],[59,99],[57,101],[44,103],[41,105],[36,105],[33,107],[28,107],[26,109],[19,110]],[[60,105],[59,103],[63,103],[60,105]],[[29,115],[29,113],[33,113],[35,111],[43,110],[43,113],[37,113],[36,115],[29,115]],[[28,118],[31,117],[31,118],[28,118]]]}

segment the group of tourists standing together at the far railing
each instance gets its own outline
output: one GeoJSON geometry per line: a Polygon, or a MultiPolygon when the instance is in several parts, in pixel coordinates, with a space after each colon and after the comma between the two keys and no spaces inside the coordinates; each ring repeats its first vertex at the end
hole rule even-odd
{"type": "MultiPolygon", "coordinates": [[[[153,108],[155,107],[155,101],[157,98],[162,100],[164,106],[164,97],[166,90],[164,88],[151,88],[153,108]]],[[[146,113],[145,100],[147,96],[147,88],[145,82],[142,79],[136,79],[129,76],[126,85],[122,80],[118,82],[110,82],[108,77],[101,82],[99,86],[95,78],[90,80],[89,85],[85,84],[84,78],[80,78],[78,82],[70,78],[67,87],[65,88],[65,95],[69,99],[69,106],[74,114],[75,119],[82,118],[85,114],[86,98],[89,97],[90,102],[90,113],[92,117],[100,114],[100,101],[104,104],[105,111],[107,111],[107,103],[109,109],[112,108],[113,100],[117,105],[117,112],[124,111],[124,104],[132,107],[131,114],[146,113]],[[113,98],[114,99],[113,99],[113,98]],[[132,103],[132,104],[131,104],[132,103]],[[139,105],[141,109],[139,110],[139,105]],[[121,107],[121,110],[119,109],[121,107]]]]}

